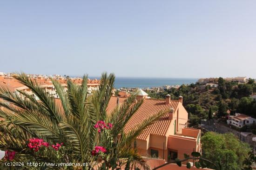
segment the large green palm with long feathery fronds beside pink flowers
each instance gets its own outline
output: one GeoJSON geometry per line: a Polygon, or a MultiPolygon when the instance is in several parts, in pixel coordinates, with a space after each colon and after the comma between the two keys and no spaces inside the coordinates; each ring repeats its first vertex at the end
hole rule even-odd
{"type": "MultiPolygon", "coordinates": [[[[89,169],[95,168],[97,164],[106,169],[110,166],[112,169],[120,168],[123,164],[139,164],[144,169],[148,168],[145,160],[132,145],[136,137],[166,112],[152,115],[125,132],[124,127],[143,100],[135,103],[136,93],[133,93],[112,113],[107,113],[108,102],[114,89],[114,74],[103,73],[99,90],[92,95],[87,92],[87,76],[83,76],[81,86],[68,79],[67,91],[58,81],[51,79],[59,100],[48,94],[40,82],[26,74],[17,73],[13,77],[30,88],[40,99],[37,101],[24,91],[17,90],[13,93],[7,87],[0,87],[0,107],[3,107],[0,109],[0,149],[16,151],[15,160],[88,163],[89,169]],[[25,96],[25,99],[18,93],[25,96]],[[113,128],[97,132],[94,125],[99,120],[106,124],[112,123],[113,128]],[[63,143],[64,147],[60,151],[44,149],[35,153],[27,148],[27,140],[32,138],[43,139],[50,145],[63,143]],[[99,156],[92,156],[91,151],[96,145],[107,148],[104,160],[99,160],[99,156]]],[[[48,168],[50,167],[49,165],[48,168]]],[[[63,167],[57,169],[61,168],[63,167]]]]}

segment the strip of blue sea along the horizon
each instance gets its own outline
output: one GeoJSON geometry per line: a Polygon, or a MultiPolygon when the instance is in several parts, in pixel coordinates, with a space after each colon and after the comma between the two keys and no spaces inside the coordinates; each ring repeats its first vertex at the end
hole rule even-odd
{"type": "MultiPolygon", "coordinates": [[[[90,79],[100,77],[90,77],[90,79]]],[[[115,88],[152,88],[195,83],[197,78],[115,77],[115,88]]]]}

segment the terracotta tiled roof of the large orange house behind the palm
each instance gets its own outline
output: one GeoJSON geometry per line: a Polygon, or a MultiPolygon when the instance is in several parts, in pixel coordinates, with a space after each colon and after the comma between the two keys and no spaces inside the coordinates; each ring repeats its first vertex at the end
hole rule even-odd
{"type": "MultiPolygon", "coordinates": [[[[125,97],[119,97],[119,103],[123,103],[126,100],[125,97]]],[[[117,105],[117,97],[111,96],[107,112],[111,113],[113,109],[117,105]]],[[[142,103],[141,107],[138,111],[134,114],[134,116],[128,121],[127,126],[125,127],[125,131],[131,130],[133,127],[141,123],[142,120],[145,120],[148,116],[154,115],[161,110],[169,109],[169,108],[176,108],[178,107],[179,101],[171,100],[170,104],[166,104],[165,100],[159,99],[145,99],[142,103]]],[[[166,113],[160,120],[155,122],[153,125],[148,126],[148,128],[138,137],[138,139],[146,140],[149,134],[155,134],[164,136],[170,125],[171,120],[168,120],[168,113],[166,113]]]]}

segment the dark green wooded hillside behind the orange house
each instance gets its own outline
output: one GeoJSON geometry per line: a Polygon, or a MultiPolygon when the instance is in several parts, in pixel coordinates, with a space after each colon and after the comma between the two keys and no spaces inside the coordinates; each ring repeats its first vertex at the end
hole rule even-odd
{"type": "Polygon", "coordinates": [[[161,92],[147,92],[150,97],[165,99],[166,94],[170,94],[172,99],[177,100],[178,96],[183,96],[183,105],[189,113],[190,123],[195,125],[195,118],[209,119],[211,109],[212,115],[217,118],[225,117],[227,110],[231,114],[244,113],[256,118],[256,101],[249,96],[256,93],[256,83],[250,79],[248,83],[226,82],[222,77],[211,80],[218,84],[217,88],[209,85],[192,83],[182,85],[180,88],[171,88],[161,92]],[[195,117],[197,116],[197,117],[195,117]]]}

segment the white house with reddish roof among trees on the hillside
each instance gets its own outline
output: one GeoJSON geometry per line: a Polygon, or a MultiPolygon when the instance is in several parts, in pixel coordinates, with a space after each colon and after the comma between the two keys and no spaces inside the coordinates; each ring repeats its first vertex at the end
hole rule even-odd
{"type": "Polygon", "coordinates": [[[236,113],[235,116],[229,116],[227,123],[228,125],[234,125],[236,127],[241,128],[244,125],[250,126],[256,123],[256,119],[245,114],[236,113]]]}

